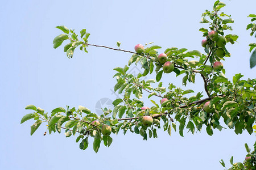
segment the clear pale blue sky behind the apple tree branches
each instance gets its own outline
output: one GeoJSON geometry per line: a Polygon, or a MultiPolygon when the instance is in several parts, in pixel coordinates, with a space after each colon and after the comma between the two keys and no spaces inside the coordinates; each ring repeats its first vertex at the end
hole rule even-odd
{"type": "MultiPolygon", "coordinates": [[[[234,19],[233,34],[238,43],[227,45],[232,57],[226,59],[226,76],[242,73],[245,79],[255,78],[256,68],[249,68],[249,43],[255,42],[246,31],[247,16],[255,14],[255,0],[224,1],[226,14],[234,19]]],[[[30,113],[28,104],[51,112],[57,107],[83,105],[97,111],[97,102],[115,100],[112,90],[114,67],[123,67],[129,53],[89,47],[84,53],[77,50],[72,59],[63,46],[53,49],[52,40],[66,25],[79,32],[86,28],[89,42],[97,45],[134,50],[138,43],[154,41],[164,49],[197,49],[201,47],[199,28],[201,14],[212,10],[214,1],[2,1],[0,6],[0,105],[1,145],[0,169],[224,169],[218,162],[228,164],[242,161],[246,155],[244,143],[253,146],[255,135],[246,131],[236,135],[234,130],[214,130],[212,137],[205,130],[184,138],[172,131],[170,137],[163,129],[157,139],[143,141],[137,134],[122,132],[115,136],[109,148],[101,145],[97,154],[92,147],[82,151],[76,137],[64,133],[43,136],[46,124],[30,137],[33,120],[20,125],[20,119],[30,113]]],[[[227,32],[231,33],[231,32],[227,32]]],[[[133,66],[131,67],[133,68],[133,66]]],[[[136,68],[134,68],[136,69],[136,68]]],[[[149,78],[149,77],[148,77],[149,78]]],[[[201,79],[188,84],[195,92],[203,91],[201,79]]],[[[164,75],[163,81],[181,86],[181,78],[164,75]]],[[[151,107],[147,97],[145,103],[151,107]]]]}

